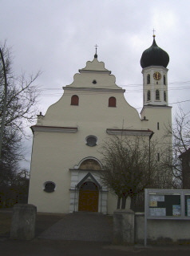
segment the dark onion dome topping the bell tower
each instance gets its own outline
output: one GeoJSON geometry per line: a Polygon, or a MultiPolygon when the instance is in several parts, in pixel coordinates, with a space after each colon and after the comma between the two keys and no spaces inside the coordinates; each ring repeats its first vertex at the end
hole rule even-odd
{"type": "Polygon", "coordinates": [[[145,50],[141,56],[141,67],[163,66],[167,67],[169,55],[156,45],[155,35],[153,35],[152,46],[145,50]]]}

